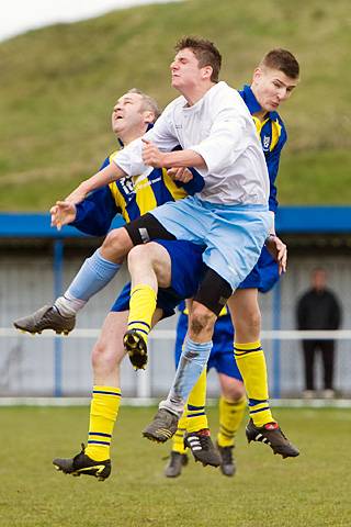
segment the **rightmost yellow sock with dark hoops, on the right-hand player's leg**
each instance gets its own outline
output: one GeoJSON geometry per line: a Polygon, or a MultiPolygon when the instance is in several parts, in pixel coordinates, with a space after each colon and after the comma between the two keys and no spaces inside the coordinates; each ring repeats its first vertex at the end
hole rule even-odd
{"type": "Polygon", "coordinates": [[[274,422],[268,395],[267,366],[261,343],[234,345],[234,355],[249,399],[250,417],[256,426],[274,422]]]}

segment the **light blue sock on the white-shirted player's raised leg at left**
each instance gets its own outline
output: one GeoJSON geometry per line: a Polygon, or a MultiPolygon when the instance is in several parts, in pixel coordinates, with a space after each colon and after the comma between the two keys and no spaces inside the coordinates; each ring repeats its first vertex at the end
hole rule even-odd
{"type": "Polygon", "coordinates": [[[88,301],[113,279],[120,268],[121,264],[105,260],[100,255],[100,249],[97,249],[86,259],[66,293],[68,296],[88,301]]]}

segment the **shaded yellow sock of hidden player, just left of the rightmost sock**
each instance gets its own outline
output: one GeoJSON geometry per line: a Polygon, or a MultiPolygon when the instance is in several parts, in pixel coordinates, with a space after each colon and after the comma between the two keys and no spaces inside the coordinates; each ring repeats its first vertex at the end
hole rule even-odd
{"type": "Polygon", "coordinates": [[[219,399],[219,431],[217,442],[219,447],[233,447],[234,438],[241,424],[247,407],[246,396],[238,401],[227,401],[224,396],[219,399]]]}

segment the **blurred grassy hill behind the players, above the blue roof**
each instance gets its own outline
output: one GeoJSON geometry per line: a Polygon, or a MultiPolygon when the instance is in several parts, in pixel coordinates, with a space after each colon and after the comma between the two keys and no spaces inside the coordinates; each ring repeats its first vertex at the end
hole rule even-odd
{"type": "Polygon", "coordinates": [[[0,44],[0,209],[47,210],[114,148],[110,113],[138,87],[165,105],[173,45],[219,47],[235,87],[269,48],[291,49],[302,82],[282,106],[288,145],[280,202],[351,202],[350,10],[347,0],[188,0],[115,11],[0,44]],[[340,191],[341,190],[341,191],[340,191]]]}

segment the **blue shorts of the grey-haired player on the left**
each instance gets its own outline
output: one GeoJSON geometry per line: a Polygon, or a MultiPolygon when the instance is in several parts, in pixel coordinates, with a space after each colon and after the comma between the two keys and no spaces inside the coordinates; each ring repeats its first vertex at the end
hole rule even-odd
{"type": "MultiPolygon", "coordinates": [[[[163,318],[174,314],[174,309],[182,300],[194,296],[200,281],[206,270],[202,254],[204,247],[183,240],[156,239],[162,245],[171,258],[171,287],[159,289],[157,306],[163,311],[163,318]]],[[[131,283],[127,283],[114,304],[113,312],[128,311],[131,283]]]]}

